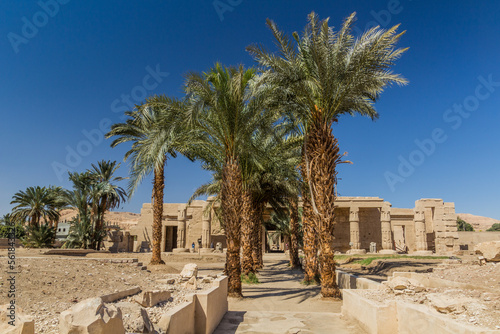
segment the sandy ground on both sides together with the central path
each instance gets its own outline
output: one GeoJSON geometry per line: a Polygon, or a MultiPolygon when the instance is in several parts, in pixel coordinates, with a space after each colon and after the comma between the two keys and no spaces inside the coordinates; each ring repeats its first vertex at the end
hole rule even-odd
{"type": "MultiPolygon", "coordinates": [[[[199,276],[220,274],[225,261],[224,254],[166,253],[163,259],[167,265],[149,266],[150,253],[100,253],[75,257],[48,256],[43,254],[45,251],[16,250],[16,304],[35,318],[37,333],[57,333],[59,314],[83,299],[133,286],[140,286],[143,290],[158,289],[156,280],[176,277],[186,263],[197,263],[199,276]],[[141,270],[136,263],[109,262],[119,259],[138,259],[147,265],[147,270],[141,270]]],[[[6,250],[0,250],[2,304],[9,301],[6,255],[6,250]]],[[[216,333],[331,333],[332,328],[337,333],[363,333],[356,324],[340,316],[341,301],[323,299],[319,286],[301,284],[302,272],[291,270],[284,254],[266,254],[264,259],[265,268],[258,275],[260,283],[244,284],[245,298],[229,299],[230,312],[216,333]]],[[[473,282],[478,286],[477,291],[429,290],[422,296],[387,296],[376,292],[372,298],[408,298],[425,303],[426,293],[463,295],[475,298],[475,306],[450,316],[496,329],[495,326],[500,326],[500,264],[479,266],[473,262],[443,264],[440,259],[388,259],[376,260],[367,266],[346,263],[339,268],[377,281],[385,280],[394,271],[417,271],[443,279],[473,282]]],[[[172,305],[182,301],[184,292],[178,291],[173,293],[172,305]]]]}

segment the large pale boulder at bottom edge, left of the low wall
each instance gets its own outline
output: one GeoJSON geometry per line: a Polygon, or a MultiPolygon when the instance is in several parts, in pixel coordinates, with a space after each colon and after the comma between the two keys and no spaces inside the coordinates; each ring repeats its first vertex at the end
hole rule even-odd
{"type": "Polygon", "coordinates": [[[61,334],[124,334],[122,312],[104,305],[101,298],[89,298],[61,313],[61,334]]]}

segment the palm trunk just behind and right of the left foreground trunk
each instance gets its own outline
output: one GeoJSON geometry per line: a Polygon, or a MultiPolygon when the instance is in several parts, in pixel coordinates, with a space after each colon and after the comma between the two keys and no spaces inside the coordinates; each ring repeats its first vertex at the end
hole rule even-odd
{"type": "Polygon", "coordinates": [[[243,258],[241,260],[241,270],[244,275],[254,272],[252,258],[252,236],[253,236],[253,215],[255,209],[252,205],[252,194],[249,190],[243,191],[242,197],[242,216],[241,216],[241,244],[243,249],[243,258]]]}

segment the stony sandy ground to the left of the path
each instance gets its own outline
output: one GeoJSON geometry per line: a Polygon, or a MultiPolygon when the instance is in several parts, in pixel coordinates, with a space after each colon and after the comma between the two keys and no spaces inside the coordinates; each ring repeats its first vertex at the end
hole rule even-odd
{"type": "MultiPolygon", "coordinates": [[[[140,286],[143,290],[174,289],[172,303],[163,307],[166,310],[168,306],[182,302],[186,291],[179,286],[158,284],[156,280],[177,277],[185,263],[198,263],[198,276],[220,274],[224,268],[221,257],[197,259],[197,256],[189,254],[182,257],[164,256],[168,265],[149,265],[147,270],[141,270],[137,263],[108,263],[104,260],[139,258],[139,262],[143,261],[147,265],[150,253],[61,257],[44,256],[45,251],[16,250],[16,305],[34,317],[36,333],[58,333],[59,314],[79,301],[134,286],[140,286]]],[[[7,296],[9,270],[6,254],[6,251],[0,251],[0,304],[10,300],[7,296]]],[[[199,288],[204,287],[200,285],[199,288]]]]}

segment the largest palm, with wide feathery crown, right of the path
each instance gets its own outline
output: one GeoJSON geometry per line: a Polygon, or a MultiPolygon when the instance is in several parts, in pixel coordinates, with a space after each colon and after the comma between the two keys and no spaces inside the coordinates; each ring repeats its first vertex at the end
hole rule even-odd
{"type": "Polygon", "coordinates": [[[283,99],[285,111],[293,112],[306,130],[303,178],[311,210],[304,211],[304,224],[312,223],[319,236],[324,297],[340,297],[332,241],[336,165],[342,155],[332,124],[343,114],[377,118],[374,103],[384,88],[406,83],[391,72],[391,66],[406,51],[395,47],[404,32],[397,33],[398,26],[388,30],[374,27],[355,38],[351,34],[354,19],[355,13],[334,32],[328,19],[319,21],[313,12],[303,34],[293,34],[294,42],[268,20],[279,54],[259,46],[248,48],[263,67],[267,84],[281,91],[277,97],[283,99]]]}

